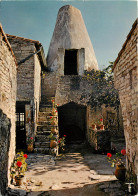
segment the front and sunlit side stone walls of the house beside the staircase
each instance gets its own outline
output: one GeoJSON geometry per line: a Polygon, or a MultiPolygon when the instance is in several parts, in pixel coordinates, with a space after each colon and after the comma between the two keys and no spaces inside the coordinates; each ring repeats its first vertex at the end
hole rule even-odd
{"type": "MultiPolygon", "coordinates": [[[[8,40],[18,63],[35,53],[38,50],[37,47],[41,45],[38,41],[11,35],[8,35],[8,40]]],[[[30,102],[30,106],[26,105],[27,115],[30,114],[29,120],[26,121],[27,140],[28,136],[33,136],[34,132],[36,132],[40,100],[41,63],[38,54],[34,54],[23,63],[19,63],[17,70],[17,101],[30,102]]]]}

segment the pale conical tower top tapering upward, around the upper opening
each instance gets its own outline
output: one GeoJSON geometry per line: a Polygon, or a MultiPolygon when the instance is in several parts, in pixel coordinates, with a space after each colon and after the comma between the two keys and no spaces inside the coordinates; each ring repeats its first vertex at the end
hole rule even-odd
{"type": "Polygon", "coordinates": [[[84,70],[98,70],[98,63],[80,10],[66,5],[60,8],[51,39],[47,64],[51,70],[58,67],[58,49],[85,50],[84,70]]]}

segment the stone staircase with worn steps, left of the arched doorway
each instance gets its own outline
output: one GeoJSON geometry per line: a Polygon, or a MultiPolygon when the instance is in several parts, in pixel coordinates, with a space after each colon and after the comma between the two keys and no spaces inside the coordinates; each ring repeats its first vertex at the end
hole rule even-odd
{"type": "Polygon", "coordinates": [[[50,149],[50,139],[49,135],[51,133],[51,127],[55,125],[51,125],[50,123],[50,115],[52,111],[52,104],[40,104],[39,114],[38,114],[38,122],[37,122],[37,133],[35,136],[35,153],[43,153],[49,154],[50,149]]]}

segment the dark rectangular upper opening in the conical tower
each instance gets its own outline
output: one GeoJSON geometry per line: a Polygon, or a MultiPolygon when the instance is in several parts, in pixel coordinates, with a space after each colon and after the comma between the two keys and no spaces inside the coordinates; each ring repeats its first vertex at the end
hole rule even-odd
{"type": "Polygon", "coordinates": [[[77,50],[65,50],[64,75],[78,75],[77,50]]]}

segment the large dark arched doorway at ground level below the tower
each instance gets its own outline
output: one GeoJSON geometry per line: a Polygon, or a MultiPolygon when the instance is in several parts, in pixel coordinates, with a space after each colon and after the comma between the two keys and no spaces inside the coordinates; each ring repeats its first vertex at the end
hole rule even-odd
{"type": "Polygon", "coordinates": [[[86,138],[86,107],[74,102],[58,108],[59,136],[66,144],[81,143],[86,138]]]}

